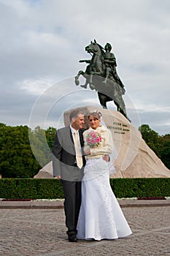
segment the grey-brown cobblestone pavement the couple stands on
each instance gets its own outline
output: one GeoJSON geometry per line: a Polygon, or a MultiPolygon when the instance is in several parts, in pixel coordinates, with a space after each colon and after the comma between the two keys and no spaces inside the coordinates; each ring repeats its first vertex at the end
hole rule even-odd
{"type": "Polygon", "coordinates": [[[122,209],[133,235],[70,243],[63,208],[1,208],[0,255],[170,255],[170,206],[122,209]]]}

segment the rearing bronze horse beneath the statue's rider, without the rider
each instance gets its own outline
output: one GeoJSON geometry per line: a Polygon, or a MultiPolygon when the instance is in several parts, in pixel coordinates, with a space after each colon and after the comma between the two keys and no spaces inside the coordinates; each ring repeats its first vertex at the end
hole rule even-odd
{"type": "Polygon", "coordinates": [[[86,81],[81,87],[87,89],[89,84],[90,89],[95,89],[102,108],[107,108],[107,102],[113,100],[117,106],[117,111],[122,113],[125,118],[128,118],[122,97],[125,94],[125,89],[117,83],[114,77],[109,78],[107,83],[104,83],[104,48],[94,40],[94,42],[91,41],[90,45],[85,47],[85,50],[92,55],[92,58],[90,60],[80,60],[80,62],[88,63],[88,67],[86,67],[85,72],[80,70],[77,73],[75,76],[76,85],[80,85],[79,77],[82,75],[86,78],[86,81]]]}

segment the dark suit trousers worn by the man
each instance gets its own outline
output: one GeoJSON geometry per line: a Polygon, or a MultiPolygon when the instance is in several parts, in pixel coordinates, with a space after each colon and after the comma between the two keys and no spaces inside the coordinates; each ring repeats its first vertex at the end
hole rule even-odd
{"type": "Polygon", "coordinates": [[[66,215],[67,235],[77,234],[77,221],[82,201],[82,182],[61,179],[64,193],[64,211],[66,215]]]}

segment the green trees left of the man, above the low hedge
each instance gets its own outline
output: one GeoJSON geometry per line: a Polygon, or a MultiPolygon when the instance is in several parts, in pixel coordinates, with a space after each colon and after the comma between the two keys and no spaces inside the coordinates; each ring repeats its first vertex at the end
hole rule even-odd
{"type": "Polygon", "coordinates": [[[56,129],[0,123],[0,174],[2,178],[32,178],[52,159],[56,129]]]}

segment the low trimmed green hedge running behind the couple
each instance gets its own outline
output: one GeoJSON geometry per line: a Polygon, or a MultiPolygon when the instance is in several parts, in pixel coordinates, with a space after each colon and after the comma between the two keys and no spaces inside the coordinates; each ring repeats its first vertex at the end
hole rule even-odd
{"type": "MultiPolygon", "coordinates": [[[[110,184],[117,198],[170,196],[170,178],[110,178],[110,184]]],[[[56,178],[1,178],[0,198],[59,199],[63,189],[56,178]]]]}

